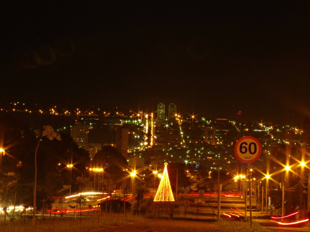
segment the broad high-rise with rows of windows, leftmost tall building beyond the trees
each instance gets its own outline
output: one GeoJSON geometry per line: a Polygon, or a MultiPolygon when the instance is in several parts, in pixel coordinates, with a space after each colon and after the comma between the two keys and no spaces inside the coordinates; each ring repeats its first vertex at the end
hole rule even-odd
{"type": "Polygon", "coordinates": [[[81,122],[75,122],[74,125],[71,127],[71,137],[73,141],[78,144],[79,148],[87,149],[88,126],[81,122]]]}

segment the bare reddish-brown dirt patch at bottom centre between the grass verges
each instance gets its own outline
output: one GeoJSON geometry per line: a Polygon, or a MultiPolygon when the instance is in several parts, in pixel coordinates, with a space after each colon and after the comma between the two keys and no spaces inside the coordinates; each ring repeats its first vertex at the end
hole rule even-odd
{"type": "Polygon", "coordinates": [[[146,219],[126,225],[113,226],[92,232],[218,232],[219,227],[214,222],[158,220],[146,219]]]}

